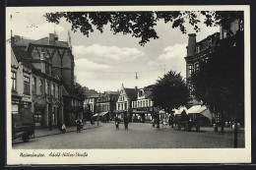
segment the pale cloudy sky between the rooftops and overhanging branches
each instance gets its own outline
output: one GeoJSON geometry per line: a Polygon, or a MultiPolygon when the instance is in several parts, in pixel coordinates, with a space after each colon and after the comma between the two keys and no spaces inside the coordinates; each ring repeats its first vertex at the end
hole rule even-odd
{"type": "MultiPolygon", "coordinates": [[[[184,57],[188,33],[195,33],[191,26],[186,25],[187,33],[183,34],[179,28],[171,28],[171,24],[160,21],[155,28],[160,38],[151,39],[145,46],[141,46],[140,38],[122,33],[113,35],[109,26],[103,29],[103,33],[95,29],[87,37],[80,30],[71,31],[71,25],[64,19],[54,26],[43,15],[13,13],[12,20],[9,19],[13,34],[39,39],[53,33],[55,27],[59,40],[67,41],[70,30],[76,80],[90,89],[116,91],[122,84],[125,87],[141,88],[156,84],[170,70],[186,77],[184,57]]],[[[200,20],[203,23],[202,17],[200,20]]],[[[197,33],[197,41],[220,31],[219,27],[199,26],[201,31],[197,33]]]]}

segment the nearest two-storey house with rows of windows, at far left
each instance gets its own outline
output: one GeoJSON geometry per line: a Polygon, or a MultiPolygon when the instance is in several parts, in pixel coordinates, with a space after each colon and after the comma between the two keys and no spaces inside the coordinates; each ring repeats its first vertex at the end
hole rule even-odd
{"type": "MultiPolygon", "coordinates": [[[[19,89],[17,93],[23,88],[22,96],[27,98],[26,109],[23,109],[20,104],[21,109],[18,109],[18,111],[20,110],[21,113],[25,110],[32,112],[36,127],[57,124],[58,120],[61,121],[63,119],[61,82],[54,76],[47,75],[42,73],[41,70],[35,69],[29,58],[28,53],[22,48],[15,45],[12,46],[12,62],[19,62],[21,65],[18,68],[18,70],[21,69],[20,71],[16,71],[15,68],[12,67],[13,88],[15,89],[17,87],[17,89],[19,89]],[[21,77],[23,77],[23,84],[19,81],[21,77]]],[[[24,102],[23,97],[21,98],[22,103],[24,102]]],[[[17,105],[14,107],[16,111],[17,107],[19,108],[19,102],[17,105]]],[[[21,115],[23,115],[23,113],[21,115]]]]}

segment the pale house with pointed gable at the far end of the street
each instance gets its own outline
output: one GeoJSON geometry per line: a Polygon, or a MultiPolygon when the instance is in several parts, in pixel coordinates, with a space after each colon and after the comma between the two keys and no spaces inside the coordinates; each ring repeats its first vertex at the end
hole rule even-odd
{"type": "Polygon", "coordinates": [[[136,100],[137,92],[137,86],[135,88],[121,86],[116,102],[116,117],[123,119],[124,114],[127,114],[129,120],[132,120],[132,101],[136,100]]]}

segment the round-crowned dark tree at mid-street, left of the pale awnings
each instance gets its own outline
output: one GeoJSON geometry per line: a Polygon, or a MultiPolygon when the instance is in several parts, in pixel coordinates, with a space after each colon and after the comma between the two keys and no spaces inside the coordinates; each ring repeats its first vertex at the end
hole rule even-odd
{"type": "Polygon", "coordinates": [[[174,108],[187,104],[189,90],[180,74],[169,71],[154,86],[152,96],[155,106],[172,113],[174,108]]]}

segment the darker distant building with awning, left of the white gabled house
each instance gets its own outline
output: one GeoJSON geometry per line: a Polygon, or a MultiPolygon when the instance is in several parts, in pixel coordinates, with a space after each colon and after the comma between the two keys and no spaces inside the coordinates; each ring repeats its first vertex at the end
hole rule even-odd
{"type": "Polygon", "coordinates": [[[108,121],[110,118],[115,117],[114,111],[116,110],[116,101],[118,98],[118,91],[105,91],[99,93],[99,97],[96,100],[96,110],[98,116],[102,117],[102,121],[108,121]]]}

